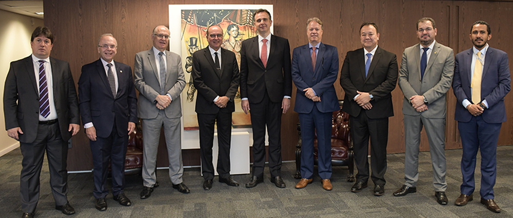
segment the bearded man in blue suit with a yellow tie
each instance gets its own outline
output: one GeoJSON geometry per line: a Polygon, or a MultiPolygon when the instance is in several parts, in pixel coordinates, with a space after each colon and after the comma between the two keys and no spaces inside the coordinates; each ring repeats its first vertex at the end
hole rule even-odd
{"type": "Polygon", "coordinates": [[[503,122],[506,122],[504,96],[510,90],[508,55],[491,48],[490,25],[475,22],[470,29],[471,49],[456,55],[452,90],[456,95],[455,119],[461,136],[463,154],[461,194],[455,204],[464,206],[473,200],[476,154],[481,150],[481,204],[488,210],[501,212],[494,201],[497,176],[497,143],[503,122]]]}

